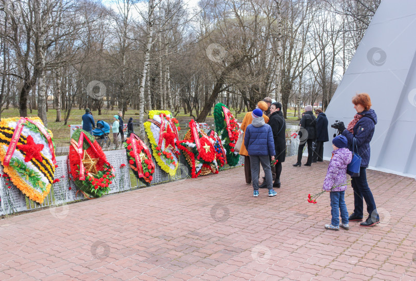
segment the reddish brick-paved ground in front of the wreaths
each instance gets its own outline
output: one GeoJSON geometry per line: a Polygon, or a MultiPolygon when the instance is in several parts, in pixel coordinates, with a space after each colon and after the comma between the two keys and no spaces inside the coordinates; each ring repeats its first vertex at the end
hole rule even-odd
{"type": "Polygon", "coordinates": [[[416,279],[414,179],[368,171],[383,223],[329,231],[327,162],[294,162],[272,198],[240,167],[2,219],[0,280],[416,279]]]}

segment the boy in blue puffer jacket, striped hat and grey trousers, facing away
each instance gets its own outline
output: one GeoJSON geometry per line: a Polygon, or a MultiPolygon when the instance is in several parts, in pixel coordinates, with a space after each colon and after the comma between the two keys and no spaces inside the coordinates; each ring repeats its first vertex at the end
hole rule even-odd
{"type": "Polygon", "coordinates": [[[251,178],[253,182],[253,196],[258,196],[258,174],[260,163],[263,167],[264,176],[266,177],[269,196],[275,196],[277,193],[273,190],[272,169],[270,167],[269,155],[274,160],[274,141],[273,132],[270,125],[264,123],[263,112],[261,109],[255,109],[252,112],[253,122],[247,126],[244,134],[245,148],[250,156],[251,178]]]}

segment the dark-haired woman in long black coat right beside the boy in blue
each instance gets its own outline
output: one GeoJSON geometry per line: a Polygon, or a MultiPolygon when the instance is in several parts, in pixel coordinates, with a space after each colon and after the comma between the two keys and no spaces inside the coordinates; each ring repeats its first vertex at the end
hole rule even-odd
{"type": "Polygon", "coordinates": [[[274,180],[273,187],[280,187],[280,174],[281,164],[285,162],[286,158],[286,122],[283,118],[280,103],[273,103],[270,106],[270,119],[269,125],[272,127],[274,150],[276,152],[275,159],[278,160],[276,164],[276,179],[274,180]]]}

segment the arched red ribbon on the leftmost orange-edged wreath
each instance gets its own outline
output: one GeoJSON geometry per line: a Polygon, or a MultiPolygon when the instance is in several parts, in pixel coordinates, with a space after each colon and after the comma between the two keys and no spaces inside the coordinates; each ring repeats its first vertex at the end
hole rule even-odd
{"type": "Polygon", "coordinates": [[[16,128],[14,129],[9,148],[7,149],[7,152],[6,152],[6,156],[4,157],[4,165],[9,166],[11,157],[13,156],[14,150],[16,150],[18,140],[20,138],[20,135],[22,134],[23,124],[26,123],[26,121],[34,124],[37,127],[37,129],[39,129],[39,131],[46,137],[46,139],[48,140],[50,153],[52,154],[52,162],[53,164],[56,164],[55,151],[53,148],[52,138],[49,135],[49,133],[45,130],[45,127],[42,126],[42,124],[40,124],[39,122],[35,122],[28,117],[20,117],[20,119],[18,119],[17,121],[16,128]]]}

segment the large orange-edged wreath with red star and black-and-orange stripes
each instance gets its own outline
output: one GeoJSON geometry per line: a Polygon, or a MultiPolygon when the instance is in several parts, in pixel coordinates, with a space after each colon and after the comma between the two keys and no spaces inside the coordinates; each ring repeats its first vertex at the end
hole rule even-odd
{"type": "Polygon", "coordinates": [[[52,132],[39,117],[2,119],[0,160],[12,183],[42,204],[54,179],[56,160],[52,132]]]}

